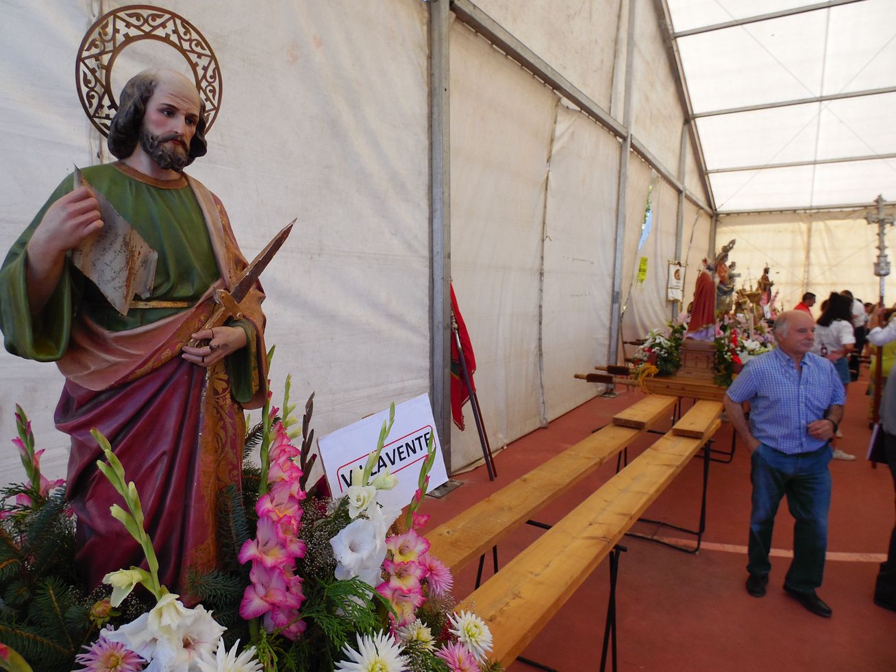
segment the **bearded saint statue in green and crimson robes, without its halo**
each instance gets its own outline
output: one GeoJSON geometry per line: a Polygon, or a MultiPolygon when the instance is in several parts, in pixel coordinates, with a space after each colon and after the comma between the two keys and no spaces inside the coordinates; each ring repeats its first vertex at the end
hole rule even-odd
{"type": "Polygon", "coordinates": [[[263,294],[246,297],[244,319],[202,329],[212,289],[231,287],[246,267],[220,201],[183,174],[206,151],[202,102],[169,71],[136,75],[120,100],[108,136],[119,160],[85,168],[87,185],[65,178],[7,255],[0,328],[10,352],[56,361],[65,375],[56,426],[72,439],[67,496],[88,590],[142,561],[108,513],[118,497],[95,466],[93,427],[140,492],[161,581],[183,590],[190,569],[217,564],[216,503],[239,485],[242,409],[266,395],[263,294]],[[103,226],[98,193],[159,255],[150,295],[126,314],[72,262],[103,226]],[[188,347],[191,339],[208,342],[188,347]]]}

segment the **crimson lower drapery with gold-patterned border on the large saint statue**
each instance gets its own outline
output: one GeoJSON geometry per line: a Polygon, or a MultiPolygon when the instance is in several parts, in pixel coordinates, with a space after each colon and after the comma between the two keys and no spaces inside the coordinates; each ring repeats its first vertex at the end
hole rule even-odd
{"type": "Polygon", "coordinates": [[[96,468],[102,453],[93,428],[115,446],[141,496],[159,581],[185,590],[189,569],[202,573],[216,566],[215,508],[220,490],[240,482],[246,427],[222,363],[209,369],[209,379],[203,394],[205,369],[177,357],[100,392],[66,381],[56,426],[72,438],[68,497],[78,516],[76,559],[86,585],[96,586],[118,569],[145,566],[142,548],[109,515],[110,504],[124,501],[96,468]]]}

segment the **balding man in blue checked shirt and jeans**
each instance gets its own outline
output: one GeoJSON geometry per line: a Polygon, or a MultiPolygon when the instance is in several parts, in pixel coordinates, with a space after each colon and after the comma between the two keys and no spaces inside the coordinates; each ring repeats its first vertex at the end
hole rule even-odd
{"type": "Polygon", "coordinates": [[[765,594],[771,563],[771,531],[784,495],[796,519],[793,562],[784,590],[818,616],[831,607],[815,593],[822,585],[831,506],[831,440],[843,416],[843,385],[827,359],[812,354],[811,315],[791,310],[778,315],[778,348],[751,360],[728,388],[725,409],[752,452],[753,507],[750,513],[746,590],[765,594]],[[750,403],[747,423],[743,404],[750,403]]]}

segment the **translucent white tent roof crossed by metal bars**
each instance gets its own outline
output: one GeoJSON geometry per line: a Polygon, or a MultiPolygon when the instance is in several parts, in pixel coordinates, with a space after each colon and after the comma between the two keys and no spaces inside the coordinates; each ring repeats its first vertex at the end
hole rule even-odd
{"type": "MultiPolygon", "coordinates": [[[[817,0],[666,0],[673,32],[817,0]]],[[[774,210],[896,198],[892,108],[896,2],[862,0],[676,39],[705,164],[719,211],[774,210]],[[859,96],[787,104],[822,96],[859,96]],[[777,107],[771,107],[777,106],[777,107]],[[733,108],[758,107],[740,112],[733,108]],[[883,155],[883,157],[882,157],[883,155]],[[812,166],[775,164],[844,160],[812,166]]]]}

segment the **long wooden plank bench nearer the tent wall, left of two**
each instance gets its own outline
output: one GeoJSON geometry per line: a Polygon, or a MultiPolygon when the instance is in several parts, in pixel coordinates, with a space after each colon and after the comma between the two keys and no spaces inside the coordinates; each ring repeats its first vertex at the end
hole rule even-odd
{"type": "Polygon", "coordinates": [[[457,572],[518,525],[563,495],[651,426],[668,419],[676,399],[637,401],[578,444],[428,532],[429,552],[457,572]]]}

